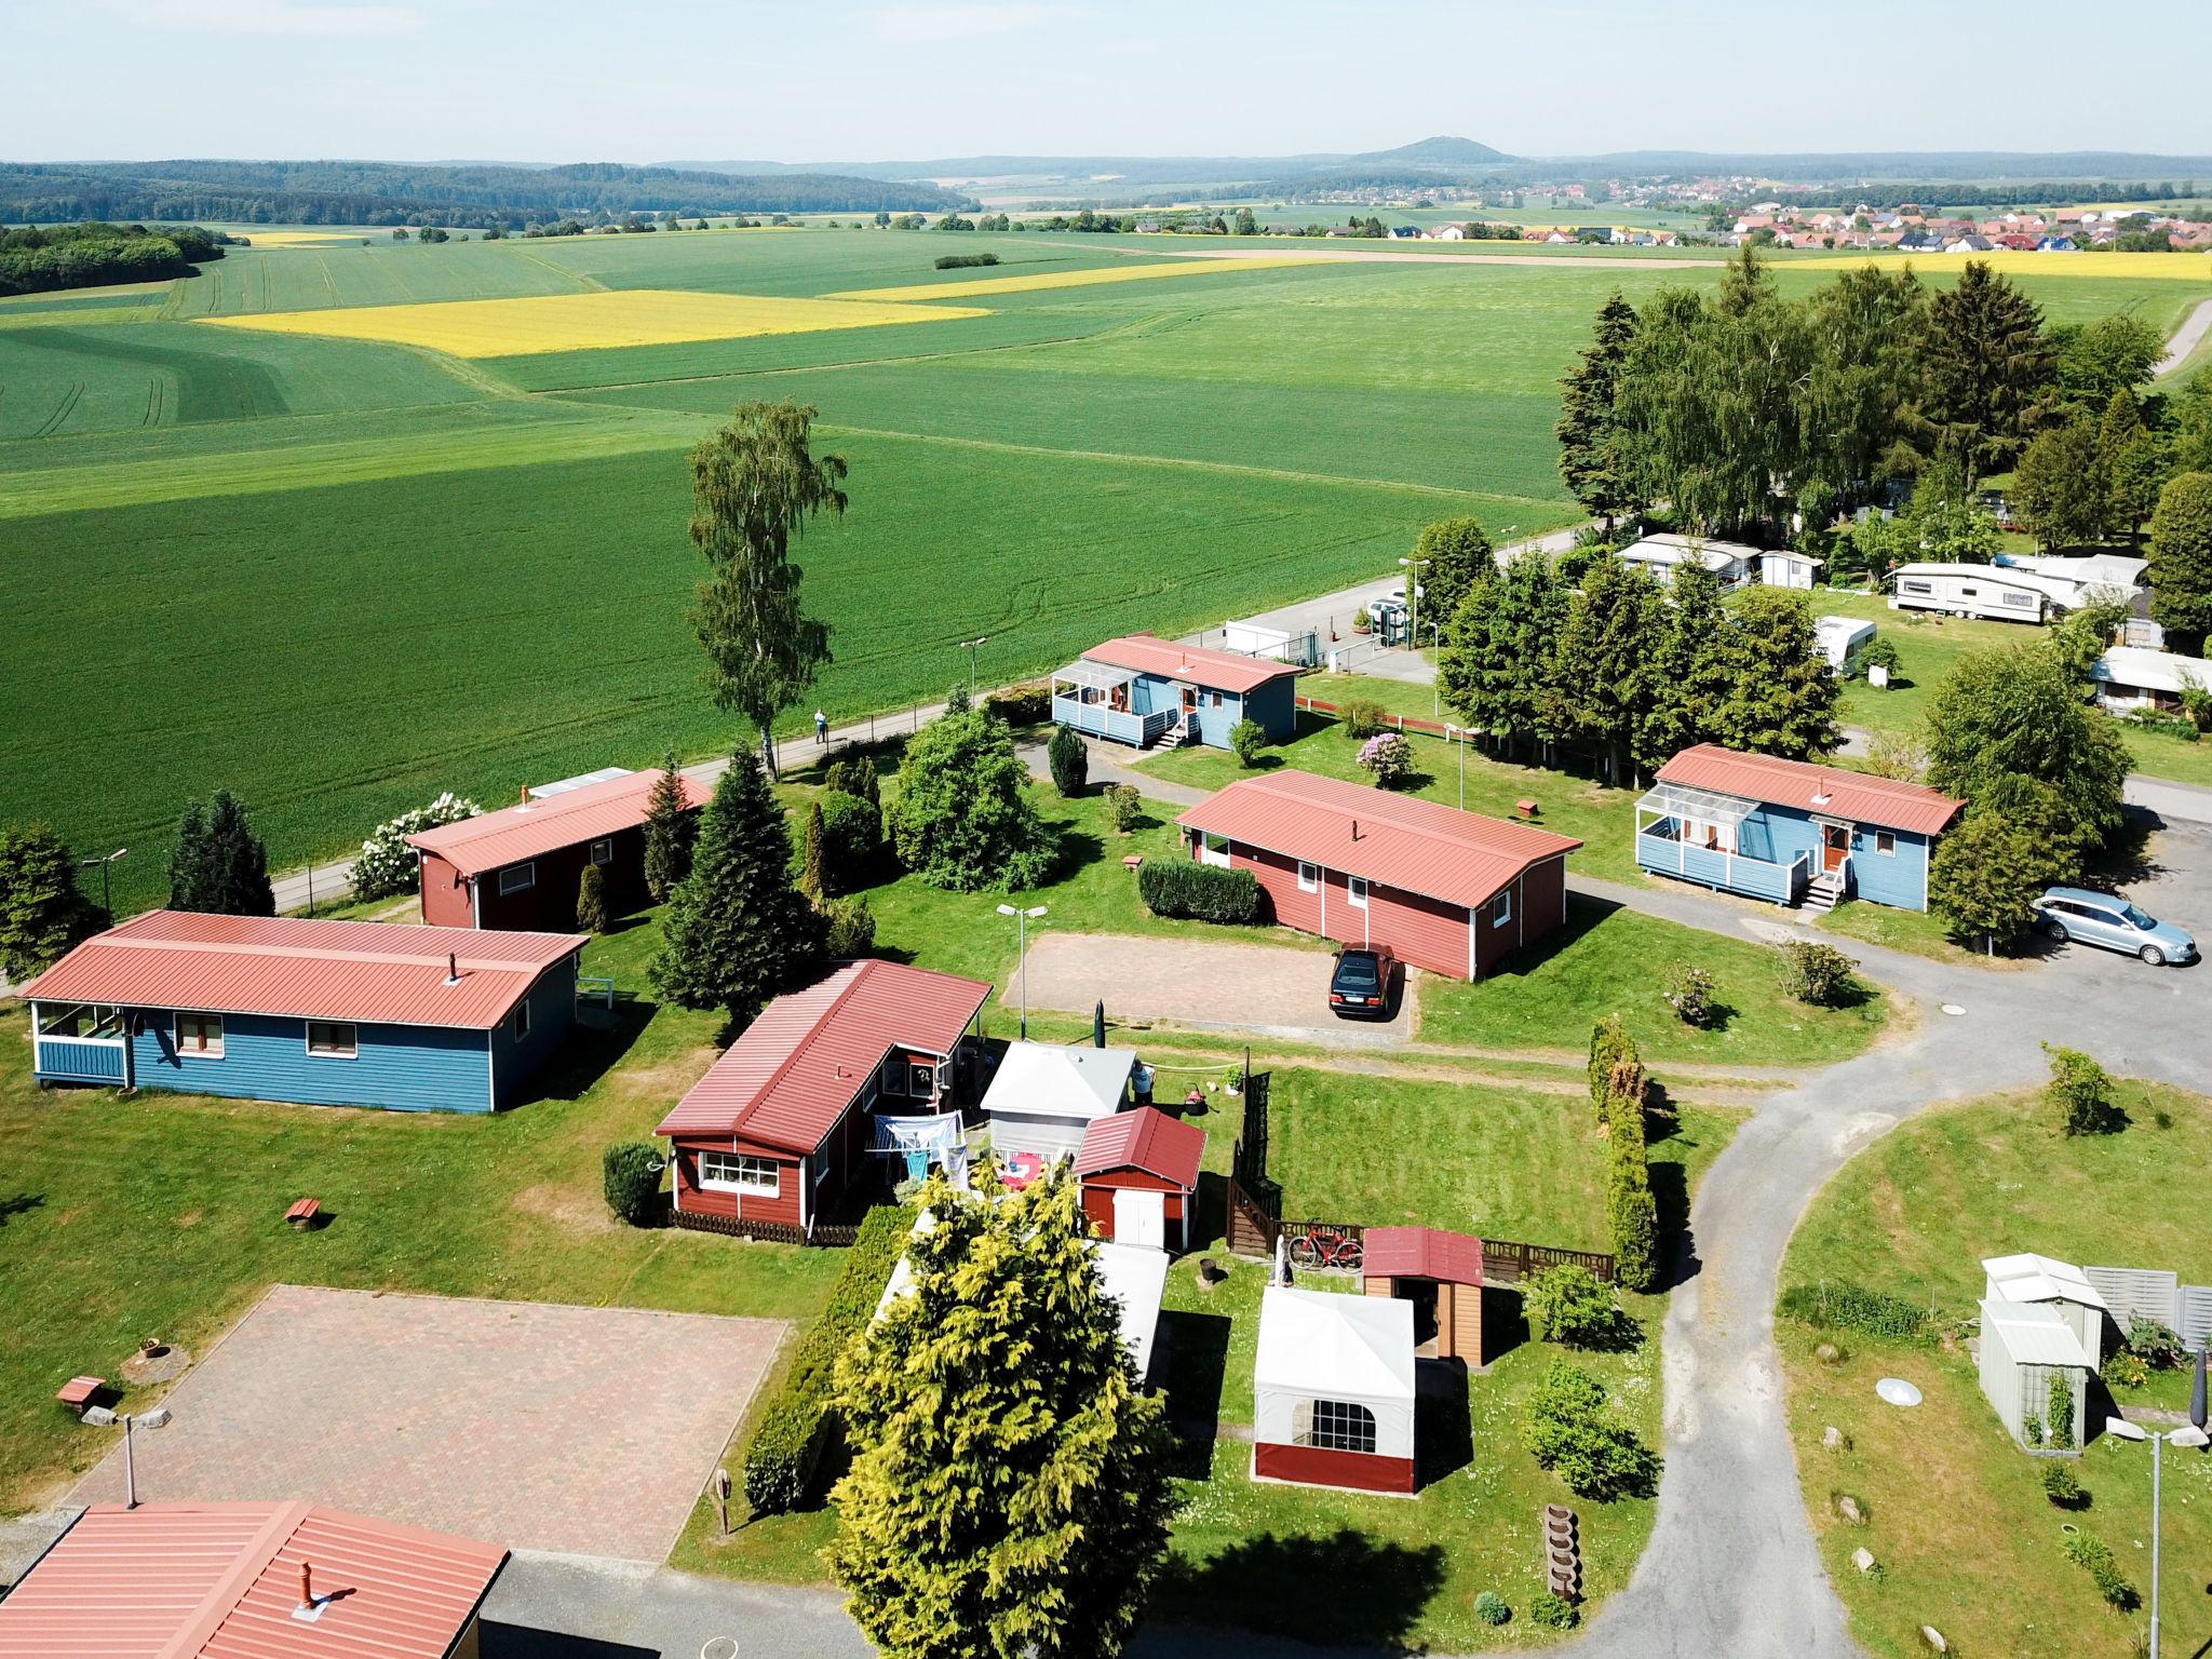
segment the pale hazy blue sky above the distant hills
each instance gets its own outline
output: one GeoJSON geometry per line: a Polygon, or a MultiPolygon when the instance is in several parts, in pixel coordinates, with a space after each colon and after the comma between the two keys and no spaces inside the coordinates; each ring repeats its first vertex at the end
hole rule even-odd
{"type": "Polygon", "coordinates": [[[2212,4],[0,0],[0,157],[2212,150],[2099,40],[2203,64],[2212,4]]]}

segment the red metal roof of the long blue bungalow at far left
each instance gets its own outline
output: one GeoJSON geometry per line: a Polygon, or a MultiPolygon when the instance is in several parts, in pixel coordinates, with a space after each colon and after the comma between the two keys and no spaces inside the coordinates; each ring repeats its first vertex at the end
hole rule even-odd
{"type": "Polygon", "coordinates": [[[155,909],[84,940],[20,995],[489,1031],[538,975],[586,942],[582,933],[155,909]],[[449,960],[458,984],[447,984],[449,960]]]}

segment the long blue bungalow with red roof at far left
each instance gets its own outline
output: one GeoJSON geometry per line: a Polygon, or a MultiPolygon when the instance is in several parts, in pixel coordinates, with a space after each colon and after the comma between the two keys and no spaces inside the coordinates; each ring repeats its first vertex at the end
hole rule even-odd
{"type": "Polygon", "coordinates": [[[491,1113],[568,1033],[584,945],[157,909],[18,995],[40,1084],[491,1113]]]}

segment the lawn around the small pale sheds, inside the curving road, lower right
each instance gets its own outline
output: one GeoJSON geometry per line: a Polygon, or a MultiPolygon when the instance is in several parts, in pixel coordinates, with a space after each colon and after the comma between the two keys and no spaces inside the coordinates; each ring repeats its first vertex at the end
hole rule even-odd
{"type": "MultiPolygon", "coordinates": [[[[1798,1225],[1783,1285],[1854,1281],[1936,1310],[1944,1327],[1973,1318],[1982,1256],[2035,1250],[2073,1263],[2170,1267],[2183,1283],[2212,1279],[2203,1225],[2201,1148],[2212,1099],[2124,1084],[2130,1126],[2112,1137],[2064,1139],[2035,1095],[2004,1095],[1907,1121],[1829,1181],[1798,1225]],[[2170,1128],[2159,1128],[2166,1113],[2170,1128]]],[[[2150,1449],[2112,1436],[2075,1464],[2093,1502],[2077,1515],[2042,1495],[2037,1460],[2017,1451],[1982,1400],[1960,1343],[1900,1345],[1845,1334],[1843,1358],[1814,1356],[1814,1334],[1781,1321],[1790,1376],[1790,1431],[1807,1511],[1858,1639],[1885,1659],[1924,1652],[1920,1624],[1953,1652],[2119,1655],[2143,1615],[2108,1613],[2086,1573],[2059,1555],[2070,1522],[2112,1546],[2148,1597],[2150,1449]],[[1880,1376],[1920,1385],[1911,1413],[1876,1402],[1880,1376]],[[1845,1451],[1825,1451],[1825,1427],[1845,1451]],[[1836,1515],[1832,1491],[1863,1500],[1867,1524],[1836,1515]],[[1856,1573],[1854,1548],[1882,1566],[1856,1573]],[[1973,1571],[1962,1573],[1960,1562],[1973,1571]]],[[[2130,1396],[2130,1402],[2137,1396],[2130,1396]]],[[[2181,1405],[2163,1376],[2143,1402],[2181,1405]]],[[[2084,1405],[2097,1425],[2108,1402],[2084,1405]]],[[[2166,1458],[2166,1650],[2201,1652],[2212,1639],[2203,1588],[2212,1562],[2212,1458],[2166,1458]]]]}

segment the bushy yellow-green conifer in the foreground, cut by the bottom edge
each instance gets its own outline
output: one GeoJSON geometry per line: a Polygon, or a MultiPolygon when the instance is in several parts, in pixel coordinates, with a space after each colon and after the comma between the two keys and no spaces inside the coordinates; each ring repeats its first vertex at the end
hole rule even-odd
{"type": "Polygon", "coordinates": [[[825,1559],[887,1659],[1108,1659],[1168,1546],[1166,1405],[1066,1164],[995,1186],[929,1179],[911,1287],[838,1360],[852,1471],[825,1559]]]}

